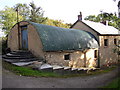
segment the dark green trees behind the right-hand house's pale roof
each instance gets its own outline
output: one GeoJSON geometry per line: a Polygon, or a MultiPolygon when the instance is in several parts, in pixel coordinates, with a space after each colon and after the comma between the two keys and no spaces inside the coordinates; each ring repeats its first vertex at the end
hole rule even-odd
{"type": "Polygon", "coordinates": [[[116,16],[116,14],[104,12],[104,13],[98,14],[97,16],[89,15],[85,17],[85,20],[89,20],[93,22],[108,21],[108,25],[113,26],[120,30],[120,19],[116,16]]]}

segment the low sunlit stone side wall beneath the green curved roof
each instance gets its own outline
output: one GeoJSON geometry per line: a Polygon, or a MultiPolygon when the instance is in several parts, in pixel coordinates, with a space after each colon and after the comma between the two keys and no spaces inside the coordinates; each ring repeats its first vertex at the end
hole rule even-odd
{"type": "Polygon", "coordinates": [[[86,52],[47,52],[47,63],[53,65],[70,66],[73,68],[80,67],[96,67],[97,58],[94,58],[94,51],[97,49],[89,49],[86,52]],[[70,60],[65,60],[64,55],[70,54],[70,60]]]}

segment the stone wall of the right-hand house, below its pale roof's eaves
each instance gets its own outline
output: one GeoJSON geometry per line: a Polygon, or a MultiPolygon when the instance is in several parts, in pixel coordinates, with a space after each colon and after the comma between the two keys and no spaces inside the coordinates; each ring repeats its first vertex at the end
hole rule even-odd
{"type": "Polygon", "coordinates": [[[117,48],[114,44],[114,39],[118,41],[120,40],[120,36],[99,36],[100,38],[100,64],[102,65],[109,65],[112,63],[118,62],[118,55],[114,53],[114,49],[117,48]],[[104,46],[104,39],[108,39],[108,46],[104,46]]]}

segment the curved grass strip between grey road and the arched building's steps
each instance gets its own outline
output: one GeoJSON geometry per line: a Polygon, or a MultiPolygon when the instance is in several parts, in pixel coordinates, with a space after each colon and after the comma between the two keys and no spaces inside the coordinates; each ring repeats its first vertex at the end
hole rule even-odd
{"type": "Polygon", "coordinates": [[[6,70],[12,71],[12,72],[16,73],[17,75],[34,76],[34,77],[57,77],[57,78],[98,75],[98,74],[110,72],[116,68],[116,66],[114,66],[114,67],[110,67],[110,68],[107,68],[104,70],[97,70],[94,72],[89,72],[87,74],[82,73],[82,74],[64,74],[64,75],[61,75],[61,74],[54,73],[54,72],[42,72],[42,71],[38,71],[38,70],[33,70],[29,67],[19,67],[19,66],[15,66],[15,65],[12,65],[12,64],[10,64],[8,62],[4,62],[4,61],[2,62],[2,65],[3,65],[3,68],[5,68],[6,70]]]}

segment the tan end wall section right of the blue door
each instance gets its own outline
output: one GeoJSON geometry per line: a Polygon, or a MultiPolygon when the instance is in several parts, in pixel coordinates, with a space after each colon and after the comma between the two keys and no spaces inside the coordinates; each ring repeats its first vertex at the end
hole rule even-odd
{"type": "Polygon", "coordinates": [[[44,58],[42,42],[36,29],[32,25],[28,26],[28,50],[35,56],[44,58]]]}

